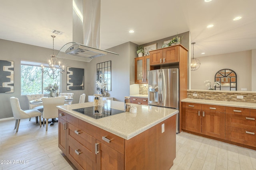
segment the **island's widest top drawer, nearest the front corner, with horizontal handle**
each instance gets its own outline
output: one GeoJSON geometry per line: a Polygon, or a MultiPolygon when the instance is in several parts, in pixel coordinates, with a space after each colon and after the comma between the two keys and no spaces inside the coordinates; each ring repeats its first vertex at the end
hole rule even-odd
{"type": "Polygon", "coordinates": [[[118,137],[117,135],[114,135],[108,131],[100,129],[99,127],[91,125],[90,123],[87,123],[80,119],[79,119],[79,129],[81,129],[82,131],[85,131],[86,133],[98,139],[99,141],[111,147],[112,149],[120,152],[121,154],[124,154],[123,138],[118,137]],[[104,139],[105,140],[109,139],[110,140],[109,143],[104,139]]]}

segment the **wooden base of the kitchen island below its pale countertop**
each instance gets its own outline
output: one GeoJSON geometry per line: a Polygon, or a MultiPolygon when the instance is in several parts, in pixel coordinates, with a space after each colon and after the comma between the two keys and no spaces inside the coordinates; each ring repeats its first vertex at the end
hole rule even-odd
{"type": "Polygon", "coordinates": [[[58,146],[78,170],[169,170],[176,157],[176,115],[129,140],[60,110],[58,118],[58,146]]]}

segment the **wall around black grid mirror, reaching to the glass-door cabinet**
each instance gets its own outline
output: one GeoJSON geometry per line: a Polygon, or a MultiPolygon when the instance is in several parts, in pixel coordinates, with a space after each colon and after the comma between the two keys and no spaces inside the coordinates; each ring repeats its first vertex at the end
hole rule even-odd
{"type": "Polygon", "coordinates": [[[97,57],[93,59],[86,70],[89,70],[86,74],[86,91],[88,95],[97,94],[96,90],[96,64],[105,61],[111,61],[111,91],[108,91],[108,95],[114,98],[116,101],[124,101],[124,96],[130,95],[130,81],[134,82],[134,58],[136,57],[137,45],[132,42],[127,42],[116,47],[107,49],[118,53],[119,56],[108,53],[106,56],[97,57]]]}

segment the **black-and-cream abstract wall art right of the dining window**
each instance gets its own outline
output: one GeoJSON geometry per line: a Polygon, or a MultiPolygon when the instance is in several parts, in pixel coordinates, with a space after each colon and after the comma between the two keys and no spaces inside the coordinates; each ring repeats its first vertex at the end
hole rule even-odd
{"type": "Polygon", "coordinates": [[[67,67],[67,90],[84,90],[84,68],[67,67]]]}

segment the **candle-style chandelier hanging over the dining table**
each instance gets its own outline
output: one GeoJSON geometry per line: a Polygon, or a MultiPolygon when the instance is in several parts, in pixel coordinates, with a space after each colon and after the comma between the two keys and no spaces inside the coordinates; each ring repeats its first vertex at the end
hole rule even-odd
{"type": "Polygon", "coordinates": [[[64,65],[60,65],[60,61],[59,61],[59,64],[56,65],[57,58],[56,58],[56,55],[54,55],[54,38],[56,36],[51,35],[51,37],[52,37],[52,44],[53,44],[52,54],[51,54],[51,58],[49,60],[49,67],[51,70],[50,71],[44,70],[43,64],[41,65],[41,70],[43,73],[47,73],[48,76],[50,76],[50,78],[54,79],[54,78],[57,78],[60,73],[63,74],[65,72],[65,70],[64,70],[64,65]]]}

